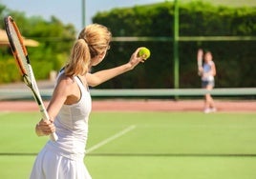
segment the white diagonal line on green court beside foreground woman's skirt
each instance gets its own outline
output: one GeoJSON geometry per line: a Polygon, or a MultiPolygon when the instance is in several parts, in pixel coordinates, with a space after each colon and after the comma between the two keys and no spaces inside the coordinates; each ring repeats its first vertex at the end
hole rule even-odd
{"type": "Polygon", "coordinates": [[[86,149],[86,153],[92,152],[92,151],[94,151],[94,150],[96,150],[96,149],[106,145],[107,143],[117,139],[118,137],[124,135],[125,133],[127,133],[127,132],[129,132],[129,131],[131,131],[132,129],[135,129],[135,128],[136,128],[136,126],[133,125],[133,126],[130,126],[130,127],[126,128],[126,129],[123,129],[123,130],[119,131],[115,135],[113,135],[113,136],[111,136],[109,138],[106,138],[105,140],[97,143],[95,146],[91,147],[90,149],[86,149]]]}

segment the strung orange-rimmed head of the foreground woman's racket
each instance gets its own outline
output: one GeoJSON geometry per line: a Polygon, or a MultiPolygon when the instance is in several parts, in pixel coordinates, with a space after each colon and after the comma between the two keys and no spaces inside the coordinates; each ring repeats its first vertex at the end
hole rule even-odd
{"type": "Polygon", "coordinates": [[[11,16],[5,17],[5,28],[18,69],[25,82],[31,81],[32,72],[28,51],[24,45],[23,37],[11,16]]]}

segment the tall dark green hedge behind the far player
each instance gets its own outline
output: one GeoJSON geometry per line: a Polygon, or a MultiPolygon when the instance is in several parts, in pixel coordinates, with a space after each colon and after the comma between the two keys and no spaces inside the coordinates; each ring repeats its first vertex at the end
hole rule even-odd
{"type": "MultiPolygon", "coordinates": [[[[95,23],[112,30],[114,36],[173,36],[172,2],[129,9],[98,12],[95,23]]],[[[215,7],[201,1],[180,5],[180,36],[254,36],[255,8],[215,7]]],[[[99,88],[173,88],[172,42],[113,42],[104,62],[94,70],[128,61],[133,50],[148,47],[152,55],[136,70],[102,84],[99,88]]],[[[255,87],[256,41],[190,41],[179,43],[180,87],[200,88],[197,50],[211,50],[217,66],[219,88],[255,87]]]]}

